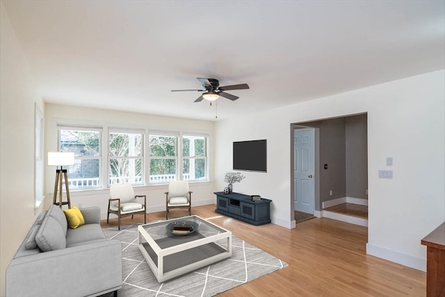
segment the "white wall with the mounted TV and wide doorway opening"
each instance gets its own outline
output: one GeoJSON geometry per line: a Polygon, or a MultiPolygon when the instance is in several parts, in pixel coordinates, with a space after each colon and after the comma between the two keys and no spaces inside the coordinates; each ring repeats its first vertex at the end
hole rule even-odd
{"type": "MultiPolygon", "coordinates": [[[[371,255],[426,270],[421,239],[445,220],[444,70],[216,122],[215,186],[232,171],[232,142],[268,140],[268,172],[244,172],[234,191],[273,200],[273,223],[291,220],[290,124],[368,113],[371,255]],[[387,168],[385,158],[394,166],[387,168]],[[394,179],[379,179],[379,169],[394,179]]],[[[296,230],[298,232],[298,228],[296,230]]]]}

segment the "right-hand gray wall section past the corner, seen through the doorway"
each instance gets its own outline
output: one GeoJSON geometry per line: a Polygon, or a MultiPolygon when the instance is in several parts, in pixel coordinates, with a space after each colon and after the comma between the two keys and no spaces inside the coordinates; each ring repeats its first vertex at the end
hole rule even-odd
{"type": "Polygon", "coordinates": [[[346,196],[368,199],[367,115],[346,117],[346,196]]]}

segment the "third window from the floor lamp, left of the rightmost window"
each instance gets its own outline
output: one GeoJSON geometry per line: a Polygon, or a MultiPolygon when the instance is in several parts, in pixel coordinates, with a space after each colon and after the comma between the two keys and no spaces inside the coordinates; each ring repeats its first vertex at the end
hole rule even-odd
{"type": "Polygon", "coordinates": [[[148,150],[150,184],[178,179],[177,139],[177,136],[171,134],[150,134],[148,150]]]}

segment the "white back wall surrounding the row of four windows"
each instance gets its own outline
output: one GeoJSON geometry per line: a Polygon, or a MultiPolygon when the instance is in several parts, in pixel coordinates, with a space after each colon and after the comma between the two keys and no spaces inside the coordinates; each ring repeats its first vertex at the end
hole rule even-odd
{"type": "MultiPolygon", "coordinates": [[[[122,111],[106,111],[102,109],[88,109],[83,107],[65,106],[58,104],[45,104],[45,152],[58,149],[57,125],[90,125],[127,129],[154,129],[163,131],[183,131],[188,133],[202,133],[209,135],[210,147],[213,147],[213,122],[202,120],[186,120],[142,113],[127,113],[122,111]]],[[[209,178],[213,177],[213,151],[209,151],[209,178]]],[[[106,156],[103,162],[106,164],[106,156]]],[[[105,165],[106,166],[106,165],[105,165]]],[[[51,204],[56,168],[48,167],[45,171],[45,193],[50,198],[46,200],[47,206],[51,204]]],[[[69,179],[70,177],[68,177],[69,179]]],[[[192,206],[216,203],[211,182],[190,183],[192,206]]],[[[147,195],[147,211],[165,211],[165,194],[167,185],[135,186],[136,195],[147,195]]],[[[66,200],[66,196],[64,196],[66,200]]],[[[108,208],[108,188],[74,191],[70,190],[72,205],[79,207],[99,206],[102,219],[106,218],[108,208]]],[[[111,215],[113,218],[115,216],[111,215]]]]}

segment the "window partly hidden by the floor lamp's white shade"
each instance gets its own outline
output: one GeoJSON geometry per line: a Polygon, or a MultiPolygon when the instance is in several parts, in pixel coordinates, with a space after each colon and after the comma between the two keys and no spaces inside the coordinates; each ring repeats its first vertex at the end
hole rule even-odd
{"type": "Polygon", "coordinates": [[[100,188],[101,130],[59,127],[59,150],[74,152],[74,166],[68,167],[70,188],[100,188]]]}

